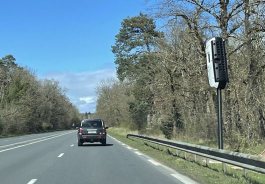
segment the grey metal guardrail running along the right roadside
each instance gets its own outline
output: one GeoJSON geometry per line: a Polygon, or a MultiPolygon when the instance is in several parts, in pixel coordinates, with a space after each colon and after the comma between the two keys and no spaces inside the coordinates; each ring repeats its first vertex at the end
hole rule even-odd
{"type": "MultiPolygon", "coordinates": [[[[155,144],[160,144],[166,147],[174,148],[177,150],[192,153],[194,155],[203,156],[206,158],[218,160],[231,165],[236,165],[245,169],[253,170],[260,173],[265,173],[265,157],[255,156],[251,154],[245,154],[235,151],[229,151],[224,149],[218,149],[213,147],[207,147],[202,145],[196,145],[186,142],[173,141],[168,139],[153,138],[145,135],[127,134],[126,136],[138,138],[141,140],[149,141],[155,144]]],[[[185,154],[186,158],[186,154],[185,154]]],[[[208,160],[206,160],[207,166],[208,160]]],[[[224,168],[223,168],[224,169],[224,168]]],[[[224,169],[225,170],[225,169],[224,169]]],[[[243,170],[245,174],[245,170],[243,170]]]]}

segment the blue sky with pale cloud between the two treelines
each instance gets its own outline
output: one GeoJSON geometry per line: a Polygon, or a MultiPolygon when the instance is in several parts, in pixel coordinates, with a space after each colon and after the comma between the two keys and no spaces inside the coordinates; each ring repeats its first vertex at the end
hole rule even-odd
{"type": "Polygon", "coordinates": [[[96,83],[115,76],[120,22],[139,11],[144,0],[1,0],[0,57],[58,80],[80,112],[93,112],[96,83]]]}

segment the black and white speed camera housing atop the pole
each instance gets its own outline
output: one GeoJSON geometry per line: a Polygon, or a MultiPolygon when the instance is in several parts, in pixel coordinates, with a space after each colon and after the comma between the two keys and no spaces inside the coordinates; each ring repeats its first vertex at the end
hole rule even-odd
{"type": "Polygon", "coordinates": [[[206,60],[210,86],[216,89],[225,88],[228,83],[228,74],[225,46],[221,37],[213,37],[207,41],[206,60]]]}

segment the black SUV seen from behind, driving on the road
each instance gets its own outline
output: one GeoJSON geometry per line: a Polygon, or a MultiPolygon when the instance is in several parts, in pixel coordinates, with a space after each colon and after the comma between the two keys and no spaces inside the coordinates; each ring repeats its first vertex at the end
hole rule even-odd
{"type": "Polygon", "coordinates": [[[80,127],[77,127],[78,133],[78,146],[83,142],[101,142],[102,145],[106,144],[106,129],[103,119],[83,119],[81,120],[80,127]]]}

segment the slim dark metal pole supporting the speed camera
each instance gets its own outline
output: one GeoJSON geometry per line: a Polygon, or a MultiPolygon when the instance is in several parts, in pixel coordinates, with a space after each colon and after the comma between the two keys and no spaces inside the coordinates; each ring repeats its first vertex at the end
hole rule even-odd
{"type": "Polygon", "coordinates": [[[217,115],[218,115],[218,148],[222,149],[222,96],[221,96],[221,89],[217,88],[217,101],[218,101],[218,106],[217,106],[217,115]]]}

